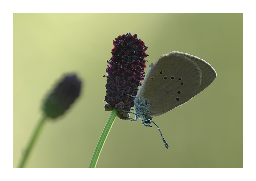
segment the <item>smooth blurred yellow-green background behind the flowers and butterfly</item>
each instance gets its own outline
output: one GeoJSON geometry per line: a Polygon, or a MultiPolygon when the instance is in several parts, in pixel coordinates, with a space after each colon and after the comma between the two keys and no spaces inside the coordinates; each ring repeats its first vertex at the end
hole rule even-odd
{"type": "Polygon", "coordinates": [[[116,118],[97,167],[242,168],[242,13],[14,13],[13,167],[41,117],[42,99],[63,73],[76,72],[84,81],[81,97],[44,125],[25,167],[88,168],[110,115],[106,60],[114,38],[127,32],[148,46],[147,66],[181,51],[210,63],[217,78],[189,103],[154,118],[168,149],[155,126],[116,118]]]}

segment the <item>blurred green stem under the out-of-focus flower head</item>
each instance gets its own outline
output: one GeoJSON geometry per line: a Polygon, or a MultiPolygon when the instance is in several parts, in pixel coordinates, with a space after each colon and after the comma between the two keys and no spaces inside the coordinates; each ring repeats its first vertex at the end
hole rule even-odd
{"type": "Polygon", "coordinates": [[[41,120],[39,121],[39,123],[37,124],[36,130],[35,130],[34,134],[32,135],[32,137],[30,138],[28,146],[25,149],[25,152],[23,153],[23,157],[22,157],[22,159],[20,161],[19,168],[23,168],[24,167],[24,164],[26,163],[28,155],[29,155],[29,153],[30,153],[34,143],[35,143],[36,138],[38,137],[38,133],[40,132],[40,130],[42,129],[42,126],[44,125],[45,119],[46,119],[46,116],[44,115],[41,118],[41,120]]]}

